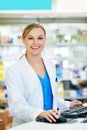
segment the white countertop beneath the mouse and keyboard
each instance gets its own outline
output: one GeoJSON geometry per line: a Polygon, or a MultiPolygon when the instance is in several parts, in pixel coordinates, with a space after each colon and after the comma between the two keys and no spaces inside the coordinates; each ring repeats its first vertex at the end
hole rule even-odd
{"type": "Polygon", "coordinates": [[[32,121],[19,126],[10,128],[9,130],[87,130],[87,123],[81,123],[83,118],[76,119],[74,123],[52,124],[32,121]]]}

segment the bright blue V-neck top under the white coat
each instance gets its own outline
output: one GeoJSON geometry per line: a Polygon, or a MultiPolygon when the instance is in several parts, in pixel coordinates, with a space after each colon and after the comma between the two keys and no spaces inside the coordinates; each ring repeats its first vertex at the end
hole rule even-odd
{"type": "Polygon", "coordinates": [[[43,101],[44,101],[43,109],[50,110],[53,108],[53,95],[52,95],[50,79],[49,79],[47,71],[44,78],[42,78],[39,75],[38,77],[41,82],[42,91],[43,91],[43,101]]]}

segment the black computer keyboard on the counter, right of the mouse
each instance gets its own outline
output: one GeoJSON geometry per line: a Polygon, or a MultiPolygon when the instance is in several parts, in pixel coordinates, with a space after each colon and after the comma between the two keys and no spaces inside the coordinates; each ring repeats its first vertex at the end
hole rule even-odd
{"type": "Polygon", "coordinates": [[[79,106],[65,110],[61,113],[61,115],[67,118],[85,117],[87,115],[87,106],[79,106]]]}

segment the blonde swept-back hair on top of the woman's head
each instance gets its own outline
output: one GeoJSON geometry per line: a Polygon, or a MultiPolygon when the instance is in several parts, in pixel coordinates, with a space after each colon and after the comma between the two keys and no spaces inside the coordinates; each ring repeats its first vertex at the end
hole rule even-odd
{"type": "Polygon", "coordinates": [[[23,33],[22,33],[22,38],[24,39],[27,36],[27,34],[34,28],[41,28],[44,31],[44,34],[46,36],[46,31],[45,31],[44,27],[41,24],[39,24],[39,23],[31,23],[31,24],[28,24],[24,28],[23,33]]]}

